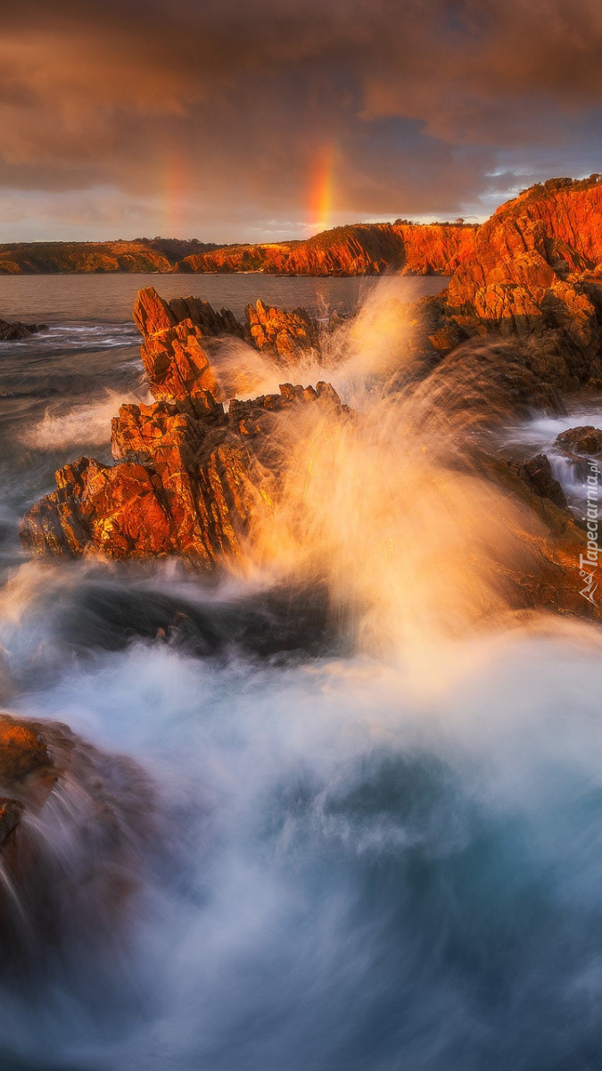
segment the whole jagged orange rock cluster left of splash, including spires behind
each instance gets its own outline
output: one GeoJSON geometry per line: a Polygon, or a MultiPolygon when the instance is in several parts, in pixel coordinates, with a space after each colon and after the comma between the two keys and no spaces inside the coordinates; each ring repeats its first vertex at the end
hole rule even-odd
{"type": "MultiPolygon", "coordinates": [[[[317,337],[302,310],[287,314],[257,302],[251,315],[258,347],[275,358],[290,360],[317,337]]],[[[226,413],[204,338],[207,325],[214,334],[231,314],[214,314],[206,302],[195,307],[194,299],[168,305],[150,288],[135,319],[146,333],[141,356],[157,402],[122,406],[111,428],[118,464],[82,457],[65,465],[57,489],[28,513],[21,538],[42,556],[180,554],[213,568],[241,556],[254,519],[275,501],[288,425],[307,407],[338,417],[345,410],[319,382],[285,383],[279,394],[232,402],[226,413]],[[178,320],[178,313],[193,313],[197,322],[178,320]]]]}

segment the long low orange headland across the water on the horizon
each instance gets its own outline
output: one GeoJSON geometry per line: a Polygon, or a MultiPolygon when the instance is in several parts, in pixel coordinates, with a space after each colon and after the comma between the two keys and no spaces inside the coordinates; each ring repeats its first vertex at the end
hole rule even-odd
{"type": "Polygon", "coordinates": [[[260,271],[274,275],[447,275],[472,253],[477,229],[447,223],[355,224],[305,241],[222,246],[178,239],[21,242],[0,245],[0,274],[260,271]]]}

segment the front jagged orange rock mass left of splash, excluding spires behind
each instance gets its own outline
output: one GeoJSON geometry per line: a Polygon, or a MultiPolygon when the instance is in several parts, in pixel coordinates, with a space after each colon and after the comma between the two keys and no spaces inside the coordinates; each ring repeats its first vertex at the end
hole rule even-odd
{"type": "Polygon", "coordinates": [[[241,554],[259,508],[277,500],[285,459],[281,421],[318,405],[346,416],[328,383],[283,384],[281,393],[206,413],[160,402],[122,406],[112,422],[119,464],[82,457],[57,472],[57,489],[21,524],[34,555],[111,558],[180,554],[211,569],[241,554]]]}

